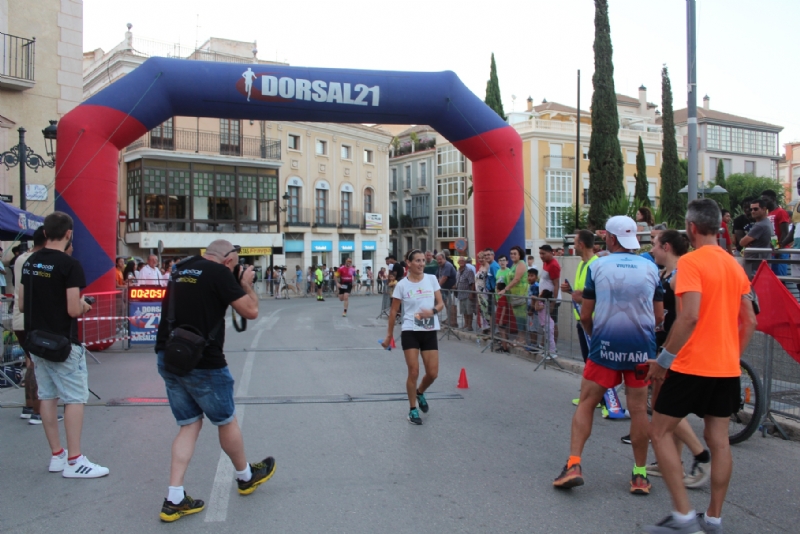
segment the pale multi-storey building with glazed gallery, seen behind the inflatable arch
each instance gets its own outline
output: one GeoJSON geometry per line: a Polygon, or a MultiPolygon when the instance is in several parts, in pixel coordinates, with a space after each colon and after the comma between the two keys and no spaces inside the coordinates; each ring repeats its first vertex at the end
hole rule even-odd
{"type": "MultiPolygon", "coordinates": [[[[151,55],[179,48],[125,40],[84,55],[85,96],[151,55]],[[109,74],[105,74],[109,73],[109,74]]],[[[255,43],[209,39],[187,59],[243,64],[255,43]]],[[[172,117],[123,151],[119,252],[198,253],[214,239],[241,245],[265,268],[374,266],[388,246],[386,176],[391,136],[358,124],[172,117]]],[[[383,254],[384,256],[381,256],[383,254]]]]}

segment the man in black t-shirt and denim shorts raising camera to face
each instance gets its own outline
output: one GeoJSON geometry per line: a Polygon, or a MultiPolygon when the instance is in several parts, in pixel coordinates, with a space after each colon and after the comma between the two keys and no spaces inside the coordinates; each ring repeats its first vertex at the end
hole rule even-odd
{"type": "Polygon", "coordinates": [[[204,415],[219,430],[220,445],[236,470],[241,495],[253,493],[275,473],[275,460],[271,456],[258,463],[247,463],[235,415],[233,377],[222,352],[229,305],[246,319],[258,317],[253,266],[241,269],[238,253],[238,246],[220,239],[208,246],[203,257],[178,263],[162,303],[162,320],[156,337],[158,372],[164,379],[172,415],[180,427],[172,444],[169,495],[159,515],[165,522],[205,508],[203,501],[192,499],[183,490],[183,478],[204,415]],[[199,354],[180,350],[179,342],[192,336],[201,340],[199,354]]]}

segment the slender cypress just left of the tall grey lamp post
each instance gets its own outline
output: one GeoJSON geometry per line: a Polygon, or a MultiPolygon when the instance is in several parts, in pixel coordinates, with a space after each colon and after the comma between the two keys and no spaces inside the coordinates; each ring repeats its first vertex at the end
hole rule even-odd
{"type": "Polygon", "coordinates": [[[684,200],[680,189],[678,143],[675,141],[675,118],[672,114],[672,85],[667,67],[661,69],[661,133],[663,153],[661,158],[661,213],[670,226],[683,228],[684,200]]]}

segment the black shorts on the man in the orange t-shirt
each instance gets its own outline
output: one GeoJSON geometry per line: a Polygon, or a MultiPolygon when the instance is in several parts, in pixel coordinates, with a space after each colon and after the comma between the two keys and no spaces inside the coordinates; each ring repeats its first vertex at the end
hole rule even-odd
{"type": "Polygon", "coordinates": [[[739,411],[741,402],[738,376],[714,378],[668,371],[654,409],[679,419],[690,413],[698,417],[730,417],[739,411]]]}

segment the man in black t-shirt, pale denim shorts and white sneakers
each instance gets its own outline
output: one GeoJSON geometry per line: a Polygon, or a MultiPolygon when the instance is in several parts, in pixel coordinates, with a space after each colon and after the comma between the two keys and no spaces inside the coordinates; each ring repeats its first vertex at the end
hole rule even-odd
{"type": "Polygon", "coordinates": [[[89,400],[86,351],[78,339],[77,318],[92,307],[81,298],[86,286],[83,267],[64,251],[72,244],[72,218],[56,211],[45,217],[47,243],[22,265],[19,287],[20,311],[25,314],[25,332],[38,330],[69,339],[71,351],[63,362],[45,360],[31,351],[36,372],[39,410],[45,436],[50,444],[50,472],[64,478],[98,478],[108,468],[93,464],[81,454],[83,406],[89,400]],[[58,399],[64,403],[67,450],[58,432],[58,399]]]}

